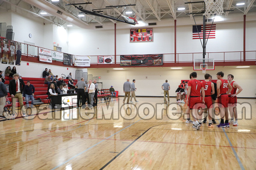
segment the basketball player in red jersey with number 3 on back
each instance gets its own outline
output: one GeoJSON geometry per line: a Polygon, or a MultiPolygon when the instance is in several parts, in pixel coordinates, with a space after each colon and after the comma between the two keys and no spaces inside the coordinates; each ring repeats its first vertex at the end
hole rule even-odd
{"type": "MultiPolygon", "coordinates": [[[[209,117],[209,124],[208,127],[215,127],[214,125],[212,125],[211,119],[212,119],[212,100],[211,100],[211,95],[215,93],[214,90],[214,84],[210,81],[211,79],[211,75],[210,74],[205,74],[204,75],[205,80],[202,81],[203,83],[203,90],[205,93],[205,97],[204,97],[204,104],[207,106],[207,110],[208,110],[208,117],[209,117]]],[[[201,109],[200,111],[200,115],[203,114],[204,109],[201,109]]]]}

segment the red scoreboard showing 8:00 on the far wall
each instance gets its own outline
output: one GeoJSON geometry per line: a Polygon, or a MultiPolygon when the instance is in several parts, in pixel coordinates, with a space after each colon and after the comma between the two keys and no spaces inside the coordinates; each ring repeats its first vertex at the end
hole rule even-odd
{"type": "Polygon", "coordinates": [[[130,29],[130,42],[153,41],[153,28],[130,29]]]}

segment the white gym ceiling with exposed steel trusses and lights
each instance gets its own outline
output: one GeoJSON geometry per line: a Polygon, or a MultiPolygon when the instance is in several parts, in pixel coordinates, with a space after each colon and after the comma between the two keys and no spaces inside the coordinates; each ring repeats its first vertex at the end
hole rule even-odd
{"type": "MultiPolygon", "coordinates": [[[[98,22],[99,25],[103,25],[104,22],[117,22],[103,17],[92,16],[85,14],[84,17],[78,17],[79,11],[74,6],[66,6],[66,4],[77,4],[91,2],[92,4],[81,4],[83,9],[92,11],[93,9],[101,9],[106,6],[117,5],[129,5],[136,4],[135,6],[113,8],[101,10],[104,14],[108,14],[113,17],[119,17],[121,14],[134,17],[138,21],[147,22],[147,20],[155,19],[161,22],[163,18],[179,19],[180,17],[190,17],[202,14],[188,14],[188,13],[200,13],[204,9],[204,3],[185,4],[186,2],[199,2],[201,0],[59,0],[53,2],[52,0],[0,0],[0,10],[10,10],[12,7],[18,7],[28,13],[35,14],[46,21],[56,23],[58,25],[64,25],[76,21],[76,23],[90,25],[91,23],[98,22]],[[179,7],[184,7],[184,10],[177,10],[179,7]],[[54,11],[55,10],[55,11],[54,11]],[[57,14],[56,11],[62,11],[63,14],[57,14]],[[47,14],[41,14],[45,11],[47,14]],[[124,11],[124,13],[122,13],[124,11]],[[131,11],[132,14],[125,14],[126,11],[131,11]]],[[[79,5],[77,5],[79,6],[79,5]]],[[[223,10],[226,11],[223,15],[230,13],[243,13],[256,11],[255,0],[224,0],[223,10]],[[244,2],[245,5],[237,6],[237,3],[244,2]]],[[[79,25],[78,25],[79,26],[79,25]]]]}

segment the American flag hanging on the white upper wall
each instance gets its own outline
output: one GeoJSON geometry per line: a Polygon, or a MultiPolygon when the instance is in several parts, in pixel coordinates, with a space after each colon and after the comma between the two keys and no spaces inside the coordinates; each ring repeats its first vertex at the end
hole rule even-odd
{"type": "MultiPolygon", "coordinates": [[[[213,24],[211,27],[210,25],[205,25],[205,38],[215,38],[215,31],[216,31],[216,24],[213,24]],[[211,29],[211,33],[210,33],[210,29],[211,29]]],[[[192,30],[192,39],[203,39],[203,25],[193,25],[193,30],[192,30]],[[199,34],[198,34],[199,33],[199,34]],[[199,37],[200,35],[200,37],[199,37]]]]}

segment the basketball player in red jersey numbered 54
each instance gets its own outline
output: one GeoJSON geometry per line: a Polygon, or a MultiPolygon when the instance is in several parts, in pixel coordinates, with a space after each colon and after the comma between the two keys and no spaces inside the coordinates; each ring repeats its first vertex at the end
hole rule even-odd
{"type": "Polygon", "coordinates": [[[224,72],[217,73],[217,97],[218,97],[218,107],[220,109],[221,121],[217,127],[230,127],[229,124],[229,113],[228,113],[228,102],[229,97],[227,94],[232,90],[232,86],[228,80],[223,79],[224,72]],[[224,123],[225,116],[225,123],[224,123]]]}

